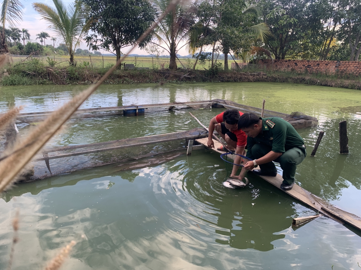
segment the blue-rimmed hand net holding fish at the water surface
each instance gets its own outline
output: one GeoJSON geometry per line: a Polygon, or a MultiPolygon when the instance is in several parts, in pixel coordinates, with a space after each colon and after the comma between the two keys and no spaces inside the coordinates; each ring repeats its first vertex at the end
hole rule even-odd
{"type": "Polygon", "coordinates": [[[248,185],[249,181],[245,175],[248,170],[246,170],[243,166],[248,161],[252,161],[247,157],[241,156],[235,153],[225,153],[221,154],[221,158],[225,162],[227,176],[223,185],[227,188],[243,188],[248,185]]]}

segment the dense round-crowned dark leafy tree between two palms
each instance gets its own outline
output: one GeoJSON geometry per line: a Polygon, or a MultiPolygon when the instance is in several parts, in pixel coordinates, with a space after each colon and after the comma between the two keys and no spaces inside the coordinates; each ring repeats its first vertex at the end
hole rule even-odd
{"type": "MultiPolygon", "coordinates": [[[[115,51],[117,60],[122,48],[135,44],[135,41],[154,22],[155,10],[147,0],[84,0],[90,7],[91,20],[89,33],[85,38],[93,51],[104,49],[115,51]]],[[[149,42],[148,37],[139,48],[149,42]]]]}

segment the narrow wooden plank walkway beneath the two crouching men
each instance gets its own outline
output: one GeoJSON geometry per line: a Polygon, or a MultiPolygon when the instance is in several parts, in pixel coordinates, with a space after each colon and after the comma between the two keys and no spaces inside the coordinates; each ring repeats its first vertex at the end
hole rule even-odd
{"type": "MultiPolygon", "coordinates": [[[[198,143],[202,144],[204,147],[208,148],[207,147],[208,138],[197,139],[196,141],[198,143]]],[[[219,143],[216,140],[213,140],[213,142],[214,142],[214,148],[212,148],[212,150],[214,150],[220,154],[226,153],[226,152],[217,150],[217,148],[222,145],[221,143],[219,143]]],[[[261,176],[261,175],[259,175],[259,177],[261,177],[262,179],[266,180],[268,183],[271,183],[272,185],[276,186],[279,189],[280,189],[280,185],[282,184],[282,181],[283,181],[282,176],[279,174],[277,174],[277,176],[275,176],[275,177],[261,176]]],[[[322,215],[324,215],[326,217],[330,217],[331,219],[333,219],[337,222],[340,222],[341,224],[347,223],[347,224],[352,225],[361,230],[361,218],[360,217],[332,206],[331,204],[327,203],[323,199],[310,193],[309,191],[305,190],[304,188],[301,188],[297,184],[294,184],[293,188],[291,190],[287,190],[287,191],[283,190],[283,189],[280,189],[280,190],[287,193],[288,195],[291,195],[293,198],[303,202],[308,207],[312,208],[315,211],[318,211],[319,213],[321,213],[322,215]]]]}

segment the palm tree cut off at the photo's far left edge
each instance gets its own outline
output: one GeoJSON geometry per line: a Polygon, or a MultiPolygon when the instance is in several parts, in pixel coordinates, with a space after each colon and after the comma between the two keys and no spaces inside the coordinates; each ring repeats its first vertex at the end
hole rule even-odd
{"type": "Polygon", "coordinates": [[[3,0],[0,13],[0,19],[3,27],[0,32],[0,54],[9,52],[5,39],[5,22],[7,22],[11,27],[15,27],[16,23],[22,21],[23,8],[24,6],[19,0],[3,0]]]}

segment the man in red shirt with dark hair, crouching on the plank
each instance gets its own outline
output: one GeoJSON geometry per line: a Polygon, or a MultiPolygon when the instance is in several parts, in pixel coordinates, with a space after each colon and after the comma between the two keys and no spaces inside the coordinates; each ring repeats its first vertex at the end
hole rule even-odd
{"type": "MultiPolygon", "coordinates": [[[[244,155],[244,148],[247,145],[247,135],[238,129],[238,120],[242,115],[235,109],[228,109],[217,116],[213,117],[209,122],[208,147],[214,148],[212,134],[214,129],[226,141],[227,147],[236,152],[236,154],[244,155]]],[[[217,150],[226,151],[223,145],[217,150]]]]}

